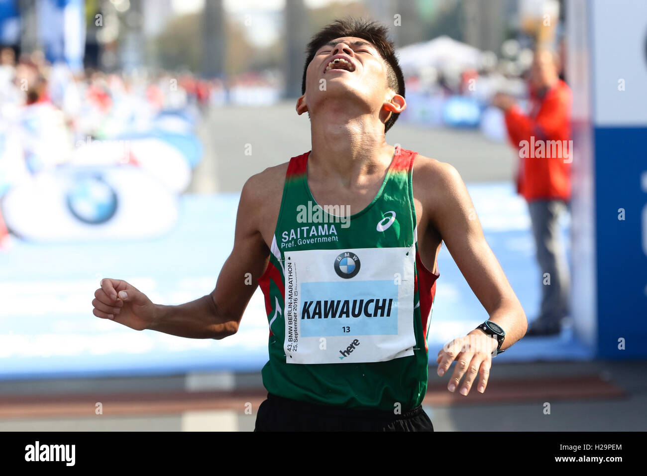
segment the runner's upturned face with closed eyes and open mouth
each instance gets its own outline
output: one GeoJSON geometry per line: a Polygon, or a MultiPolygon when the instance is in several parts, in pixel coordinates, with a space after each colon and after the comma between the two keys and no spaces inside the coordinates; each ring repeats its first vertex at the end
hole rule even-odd
{"type": "Polygon", "coordinates": [[[310,110],[320,100],[339,95],[378,109],[393,93],[388,87],[386,62],[375,46],[362,38],[345,36],[323,45],[306,71],[305,102],[310,110]],[[331,63],[336,58],[339,62],[331,63]]]}

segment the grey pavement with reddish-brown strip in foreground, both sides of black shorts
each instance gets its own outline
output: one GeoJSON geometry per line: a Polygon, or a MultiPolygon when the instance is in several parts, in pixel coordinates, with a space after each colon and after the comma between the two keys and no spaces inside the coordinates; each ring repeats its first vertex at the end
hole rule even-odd
{"type": "MultiPolygon", "coordinates": [[[[647,384],[637,376],[646,370],[644,361],[497,363],[485,394],[463,400],[450,396],[447,378],[430,367],[428,397],[435,394],[436,403],[425,411],[436,431],[644,431],[647,384]],[[528,385],[529,379],[541,384],[528,385]],[[583,380],[589,394],[578,392],[583,380]],[[493,401],[510,386],[516,397],[493,401]]],[[[0,431],[252,431],[265,398],[259,390],[258,373],[0,381],[0,431]],[[97,417],[99,398],[105,413],[97,417]]],[[[537,448],[528,454],[543,456],[537,448]]]]}

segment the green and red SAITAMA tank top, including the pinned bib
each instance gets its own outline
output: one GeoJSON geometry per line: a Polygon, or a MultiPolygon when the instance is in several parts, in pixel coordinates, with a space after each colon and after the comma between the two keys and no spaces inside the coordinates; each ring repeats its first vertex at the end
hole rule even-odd
{"type": "Polygon", "coordinates": [[[399,148],[369,205],[319,205],[310,152],[290,159],[267,270],[263,385],[293,400],[408,411],[428,381],[435,282],[418,253],[412,170],[399,148]],[[398,406],[399,405],[399,406],[398,406]]]}

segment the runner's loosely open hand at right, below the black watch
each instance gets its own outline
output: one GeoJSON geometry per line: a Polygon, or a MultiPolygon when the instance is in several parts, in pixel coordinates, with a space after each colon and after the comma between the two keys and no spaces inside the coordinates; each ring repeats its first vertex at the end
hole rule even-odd
{"type": "Polygon", "coordinates": [[[447,369],[456,361],[454,374],[450,378],[447,389],[454,392],[461,378],[465,375],[465,381],[461,387],[461,395],[467,395],[479,376],[478,391],[485,392],[488,377],[490,376],[490,367],[492,367],[492,352],[498,346],[494,337],[490,337],[481,330],[475,329],[465,337],[459,337],[445,344],[438,352],[437,373],[443,376],[447,369]]]}

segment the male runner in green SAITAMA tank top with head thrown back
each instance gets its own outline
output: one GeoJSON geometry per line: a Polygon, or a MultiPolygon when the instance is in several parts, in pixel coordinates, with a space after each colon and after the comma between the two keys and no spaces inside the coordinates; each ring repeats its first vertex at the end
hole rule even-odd
{"type": "Polygon", "coordinates": [[[438,352],[439,376],[457,361],[448,390],[466,395],[478,376],[485,391],[492,354],[526,330],[454,167],[384,139],[406,107],[387,34],[347,19],[313,37],[296,103],[309,114],[312,150],[245,183],[234,249],[212,293],[162,306],[110,278],[94,293],[97,317],[222,339],[261,286],[269,394],[256,431],[433,431],[421,402],[442,241],[489,316],[438,352]]]}

